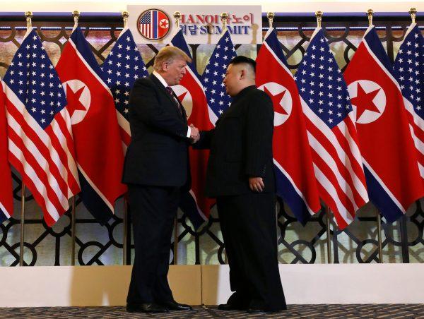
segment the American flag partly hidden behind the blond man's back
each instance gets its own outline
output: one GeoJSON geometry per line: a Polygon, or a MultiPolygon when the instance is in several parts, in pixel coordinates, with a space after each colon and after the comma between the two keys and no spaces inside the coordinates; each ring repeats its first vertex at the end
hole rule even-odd
{"type": "Polygon", "coordinates": [[[129,92],[137,78],[146,78],[148,71],[144,65],[134,37],[129,29],[122,30],[102,65],[105,83],[112,91],[117,108],[118,124],[124,150],[131,140],[129,130],[129,92]]]}

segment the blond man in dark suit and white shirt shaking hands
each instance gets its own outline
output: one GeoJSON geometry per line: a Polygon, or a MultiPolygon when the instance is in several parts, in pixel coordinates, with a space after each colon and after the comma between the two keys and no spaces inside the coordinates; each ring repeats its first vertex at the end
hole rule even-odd
{"type": "Polygon", "coordinates": [[[186,73],[189,56],[164,47],[155,57],[151,76],[136,80],[130,95],[131,144],[124,176],[134,229],[135,259],[126,309],[159,313],[187,310],[177,303],[167,282],[173,220],[180,194],[190,188],[189,140],[197,128],[170,88],[186,73]]]}

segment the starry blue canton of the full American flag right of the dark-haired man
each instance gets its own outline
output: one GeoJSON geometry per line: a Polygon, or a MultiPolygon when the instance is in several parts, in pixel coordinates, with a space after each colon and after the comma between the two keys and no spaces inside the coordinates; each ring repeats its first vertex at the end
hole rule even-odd
{"type": "Polygon", "coordinates": [[[300,96],[333,128],[352,111],[348,88],[320,29],[312,38],[295,76],[300,96]]]}

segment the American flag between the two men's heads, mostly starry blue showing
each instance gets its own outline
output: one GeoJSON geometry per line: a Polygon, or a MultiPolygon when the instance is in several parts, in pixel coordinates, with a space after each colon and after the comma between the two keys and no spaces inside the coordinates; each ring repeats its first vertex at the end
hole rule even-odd
{"type": "Polygon", "coordinates": [[[225,109],[228,109],[231,104],[231,97],[225,90],[223,78],[225,77],[228,63],[235,56],[237,54],[231,41],[230,32],[225,30],[218,44],[216,44],[201,77],[201,83],[203,83],[206,91],[206,100],[208,100],[209,119],[211,119],[213,125],[215,125],[220,114],[223,114],[225,109]]]}

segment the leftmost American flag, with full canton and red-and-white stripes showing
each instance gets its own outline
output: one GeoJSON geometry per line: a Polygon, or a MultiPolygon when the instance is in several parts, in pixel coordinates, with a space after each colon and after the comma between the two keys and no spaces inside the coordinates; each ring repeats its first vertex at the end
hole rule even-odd
{"type": "Polygon", "coordinates": [[[9,160],[52,226],[80,188],[65,92],[35,29],[25,34],[4,83],[9,160]]]}

